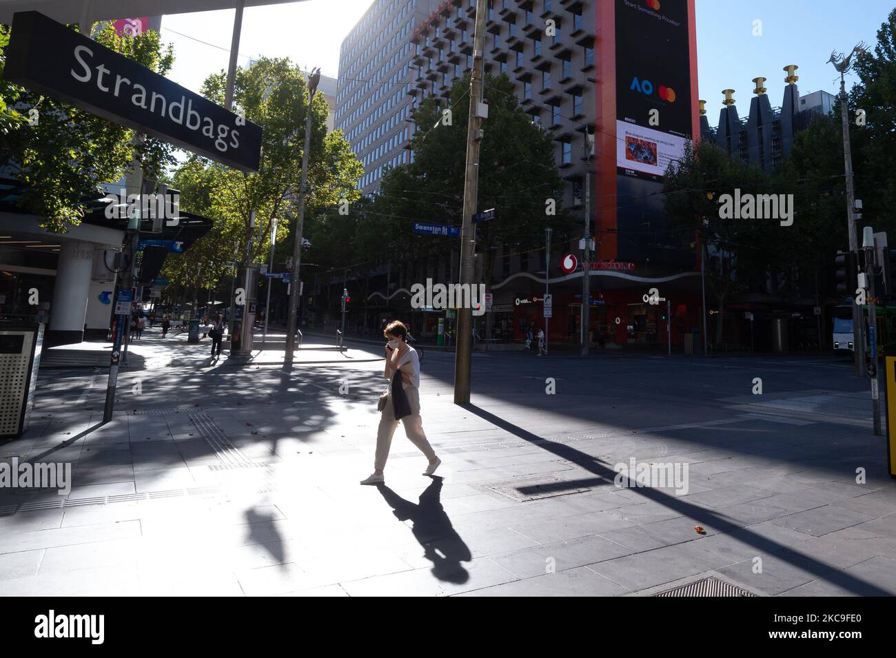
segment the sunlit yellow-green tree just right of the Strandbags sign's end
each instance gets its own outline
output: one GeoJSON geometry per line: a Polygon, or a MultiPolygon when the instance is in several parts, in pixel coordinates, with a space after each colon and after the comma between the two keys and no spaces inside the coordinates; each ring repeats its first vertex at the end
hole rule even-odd
{"type": "MultiPolygon", "coordinates": [[[[227,76],[209,76],[202,93],[223,104],[227,76]]],[[[208,282],[219,280],[228,261],[245,259],[251,244],[253,261],[266,261],[273,220],[277,219],[277,240],[289,242],[295,218],[294,201],[302,174],[302,150],[308,112],[308,90],[301,70],[289,59],[262,58],[247,69],[238,69],[234,84],[235,111],[263,127],[262,161],[253,174],[224,167],[194,156],[173,175],[181,191],[182,207],[215,220],[214,230],[197,241],[190,252],[201,253],[210,261],[208,282]],[[249,223],[255,213],[254,232],[249,223]]],[[[327,132],[329,107],[323,94],[314,95],[311,153],[308,167],[306,216],[335,207],[341,199],[356,201],[355,184],[363,167],[349,149],[341,131],[327,132]]],[[[290,250],[291,251],[291,250],[290,250]]],[[[185,285],[193,256],[180,254],[166,261],[166,275],[185,285]]],[[[204,278],[205,275],[203,275],[204,278]]]]}

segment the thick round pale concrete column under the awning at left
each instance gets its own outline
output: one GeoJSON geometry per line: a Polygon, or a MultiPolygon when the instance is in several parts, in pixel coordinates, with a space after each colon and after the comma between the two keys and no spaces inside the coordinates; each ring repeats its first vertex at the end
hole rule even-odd
{"type": "Polygon", "coordinates": [[[90,277],[93,273],[93,244],[63,240],[56,265],[56,285],[50,303],[50,326],[45,340],[51,346],[80,343],[90,277]]]}

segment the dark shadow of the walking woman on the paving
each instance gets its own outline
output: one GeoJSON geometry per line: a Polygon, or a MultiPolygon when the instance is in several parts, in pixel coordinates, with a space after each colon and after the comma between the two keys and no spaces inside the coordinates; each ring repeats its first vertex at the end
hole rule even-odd
{"type": "Polygon", "coordinates": [[[423,547],[426,560],[433,563],[433,575],[439,580],[462,584],[470,579],[470,573],[461,562],[473,559],[470,548],[451,524],[442,507],[443,479],[432,475],[433,483],[420,494],[418,504],[404,500],[385,484],[377,487],[392,508],[392,514],[400,521],[410,520],[411,532],[423,547]]]}

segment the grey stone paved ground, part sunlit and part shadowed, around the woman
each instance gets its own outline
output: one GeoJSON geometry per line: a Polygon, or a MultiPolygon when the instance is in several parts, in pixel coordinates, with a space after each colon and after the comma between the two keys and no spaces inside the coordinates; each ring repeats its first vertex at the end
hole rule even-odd
{"type": "Polygon", "coordinates": [[[399,428],[386,486],[363,487],[383,362],[314,340],[284,372],[274,347],[212,362],[207,340],[147,331],[106,424],[103,370],[41,372],[0,458],[71,464],[73,487],[0,490],[0,594],[648,595],[708,576],[896,594],[896,481],[849,363],[474,355],[458,407],[453,355],[428,350],[440,477],[399,428]],[[617,486],[631,459],[686,465],[686,491],[617,486]]]}

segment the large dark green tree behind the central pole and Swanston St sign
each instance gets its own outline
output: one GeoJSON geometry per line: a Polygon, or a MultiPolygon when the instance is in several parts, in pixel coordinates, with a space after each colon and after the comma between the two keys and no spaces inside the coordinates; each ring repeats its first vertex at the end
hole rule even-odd
{"type": "MultiPolygon", "coordinates": [[[[410,142],[414,162],[383,175],[369,213],[376,218],[386,251],[401,261],[444,256],[457,238],[415,236],[415,221],[460,226],[466,173],[470,75],[454,82],[450,103],[429,97],[414,112],[417,133],[410,142]]],[[[482,254],[484,283],[492,283],[499,245],[526,249],[543,244],[545,226],[556,238],[573,235],[564,213],[563,182],[557,174],[554,142],[533,124],[513,93],[506,75],[486,76],[483,98],[488,118],[479,152],[478,210],[495,209],[495,218],[478,224],[477,252],[482,254]],[[546,216],[547,199],[556,201],[556,216],[546,216]]],[[[458,264],[459,265],[459,264],[458,264]]]]}

